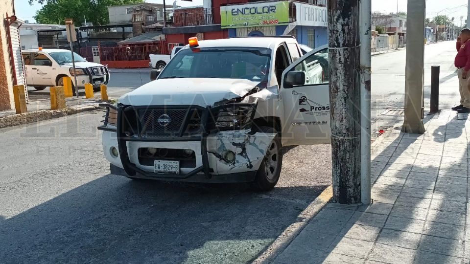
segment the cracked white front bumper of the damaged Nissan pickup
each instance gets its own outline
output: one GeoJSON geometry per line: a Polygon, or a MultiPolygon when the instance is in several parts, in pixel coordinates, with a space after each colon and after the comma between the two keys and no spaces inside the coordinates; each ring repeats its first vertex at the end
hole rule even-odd
{"type": "MultiPolygon", "coordinates": [[[[180,133],[179,136],[172,137],[130,136],[126,129],[122,129],[125,127],[122,124],[122,115],[123,110],[119,109],[116,127],[105,123],[98,129],[103,130],[103,151],[111,163],[111,173],[136,178],[191,182],[253,181],[269,144],[276,136],[273,133],[253,133],[251,129],[210,131],[206,129],[208,121],[204,115],[201,121],[202,130],[198,135],[181,136],[180,133]],[[113,148],[118,149],[118,156],[113,155],[113,148]],[[194,155],[186,159],[181,156],[179,174],[161,174],[154,172],[153,161],[142,156],[142,150],[148,148],[173,153],[190,150],[194,155]],[[231,159],[226,158],[229,152],[234,154],[231,159]]],[[[175,155],[169,159],[177,160],[175,155]]],[[[167,158],[158,156],[154,159],[167,158]]]]}

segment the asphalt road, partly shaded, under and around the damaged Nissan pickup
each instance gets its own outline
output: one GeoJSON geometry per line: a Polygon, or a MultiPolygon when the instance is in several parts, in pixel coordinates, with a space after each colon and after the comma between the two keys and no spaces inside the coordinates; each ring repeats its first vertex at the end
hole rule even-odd
{"type": "Polygon", "coordinates": [[[247,263],[331,183],[329,145],[289,151],[267,193],[110,175],[100,115],[0,130],[1,263],[247,263]]]}

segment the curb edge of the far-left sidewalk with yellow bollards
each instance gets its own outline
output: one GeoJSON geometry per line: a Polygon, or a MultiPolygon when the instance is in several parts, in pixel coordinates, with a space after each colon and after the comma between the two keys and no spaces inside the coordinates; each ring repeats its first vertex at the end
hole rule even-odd
{"type": "Polygon", "coordinates": [[[0,129],[98,109],[102,108],[98,106],[83,106],[79,108],[66,108],[61,110],[38,110],[21,114],[12,114],[0,118],[0,129]]]}

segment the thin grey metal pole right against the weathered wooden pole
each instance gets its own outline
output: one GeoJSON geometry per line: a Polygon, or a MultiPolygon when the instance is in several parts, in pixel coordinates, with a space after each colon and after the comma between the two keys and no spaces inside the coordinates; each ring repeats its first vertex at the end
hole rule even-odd
{"type": "MultiPolygon", "coordinates": [[[[398,2],[398,1],[397,1],[398,2]]],[[[398,8],[397,8],[398,9],[398,8]]],[[[371,0],[361,0],[361,202],[371,203],[371,0]]],[[[398,48],[398,45],[397,45],[398,48]]]]}

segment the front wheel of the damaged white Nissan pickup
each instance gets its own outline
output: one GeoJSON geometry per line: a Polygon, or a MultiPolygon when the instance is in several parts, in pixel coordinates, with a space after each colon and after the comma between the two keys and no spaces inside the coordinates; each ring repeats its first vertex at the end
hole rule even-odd
{"type": "Polygon", "coordinates": [[[281,139],[278,132],[269,127],[260,127],[259,132],[276,133],[273,141],[269,144],[263,162],[259,166],[258,172],[253,182],[260,191],[269,191],[276,186],[281,175],[282,152],[281,139]]]}

